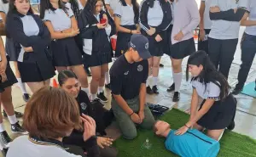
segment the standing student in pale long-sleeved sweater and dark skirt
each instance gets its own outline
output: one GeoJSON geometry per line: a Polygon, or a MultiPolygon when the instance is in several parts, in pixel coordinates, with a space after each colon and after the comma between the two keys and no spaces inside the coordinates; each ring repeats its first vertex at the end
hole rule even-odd
{"type": "MultiPolygon", "coordinates": [[[[173,84],[174,88],[172,101],[177,102],[180,98],[180,87],[183,78],[183,59],[195,52],[194,30],[200,22],[200,15],[195,0],[174,0],[173,27],[170,56],[172,60],[173,84]]],[[[170,91],[170,90],[167,91],[170,91]]]]}

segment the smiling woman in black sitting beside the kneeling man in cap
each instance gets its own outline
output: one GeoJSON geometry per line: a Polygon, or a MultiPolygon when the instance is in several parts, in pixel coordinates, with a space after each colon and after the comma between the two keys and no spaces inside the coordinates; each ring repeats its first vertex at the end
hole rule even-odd
{"type": "MultiPolygon", "coordinates": [[[[96,132],[106,135],[105,129],[113,119],[113,113],[104,109],[102,104],[91,104],[87,94],[80,90],[78,77],[71,70],[63,70],[59,73],[58,81],[62,89],[76,98],[80,115],[90,115],[96,121],[96,132]]],[[[115,149],[109,148],[113,139],[108,137],[97,137],[98,146],[101,148],[101,156],[116,156],[115,149]]],[[[83,132],[74,130],[69,137],[63,139],[63,143],[77,145],[87,151],[87,145],[83,140],[83,132]]]]}

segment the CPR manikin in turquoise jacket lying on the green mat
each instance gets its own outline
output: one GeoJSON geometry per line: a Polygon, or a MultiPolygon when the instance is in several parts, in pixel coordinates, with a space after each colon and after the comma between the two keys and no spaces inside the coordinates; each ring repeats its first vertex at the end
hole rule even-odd
{"type": "Polygon", "coordinates": [[[157,136],[166,137],[166,149],[173,153],[186,157],[217,156],[219,151],[218,141],[207,137],[196,129],[189,130],[183,136],[177,136],[175,132],[166,121],[156,121],[154,124],[154,133],[157,136]]]}

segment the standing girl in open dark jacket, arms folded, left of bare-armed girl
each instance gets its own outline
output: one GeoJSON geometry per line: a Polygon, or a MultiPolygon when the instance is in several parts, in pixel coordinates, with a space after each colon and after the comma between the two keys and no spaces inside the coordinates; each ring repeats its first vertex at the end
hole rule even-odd
{"type": "Polygon", "coordinates": [[[9,3],[6,31],[15,42],[21,79],[35,93],[49,86],[50,78],[55,76],[48,48],[51,38],[44,22],[32,13],[30,3],[24,0],[19,4],[9,3]]]}

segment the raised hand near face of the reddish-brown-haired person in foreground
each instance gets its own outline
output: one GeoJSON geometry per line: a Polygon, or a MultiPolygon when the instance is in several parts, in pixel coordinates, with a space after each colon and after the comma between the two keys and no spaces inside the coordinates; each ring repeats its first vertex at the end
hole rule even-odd
{"type": "Polygon", "coordinates": [[[84,122],[84,141],[96,135],[96,122],[88,115],[82,115],[81,120],[84,122]]]}

